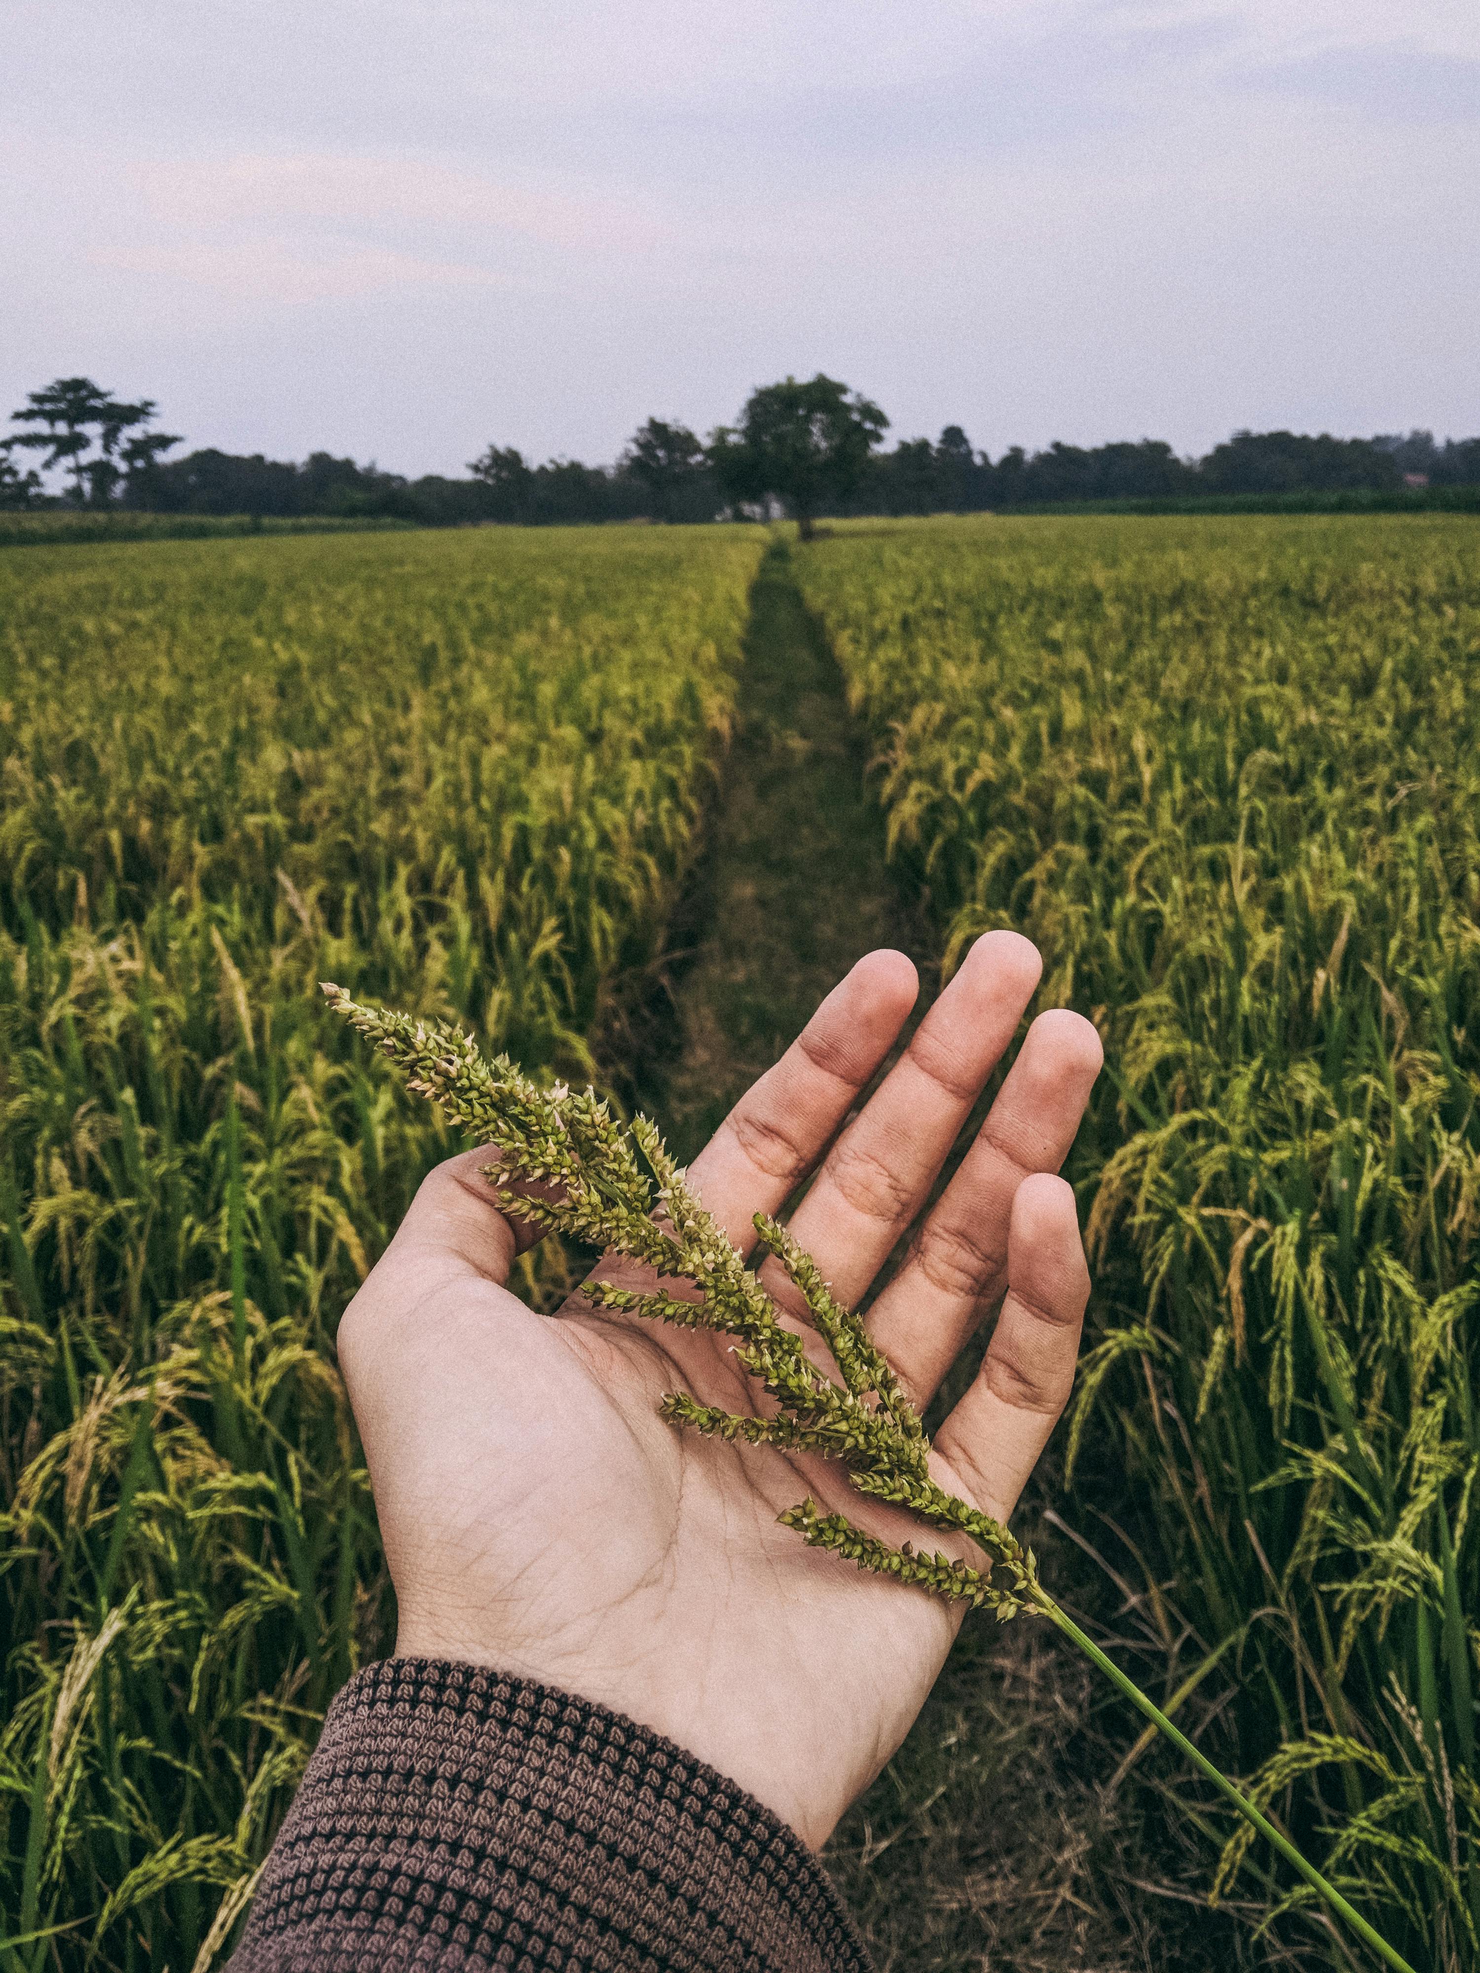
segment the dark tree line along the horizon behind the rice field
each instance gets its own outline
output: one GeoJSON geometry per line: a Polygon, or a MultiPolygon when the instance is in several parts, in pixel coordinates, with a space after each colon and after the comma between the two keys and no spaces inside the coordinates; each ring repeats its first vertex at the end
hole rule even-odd
{"type": "Polygon", "coordinates": [[[217,448],[168,460],[182,438],[154,426],[152,399],[120,401],[89,377],[32,391],[0,440],[0,507],[73,505],[253,517],[387,517],[430,527],[503,521],[712,521],[787,511],[821,515],[971,513],[1107,499],[1198,495],[1399,493],[1480,485],[1480,438],[1431,432],[1375,438],[1235,432],[1204,458],[1164,440],[1010,446],[993,460],[959,424],[937,440],[884,448],[888,418],[837,379],[764,385],[734,426],[701,440],[649,418],[614,466],[529,462],[489,444],[468,477],[408,479],[314,452],[302,464],[217,448]],[[36,464],[30,464],[30,462],[36,464]]]}

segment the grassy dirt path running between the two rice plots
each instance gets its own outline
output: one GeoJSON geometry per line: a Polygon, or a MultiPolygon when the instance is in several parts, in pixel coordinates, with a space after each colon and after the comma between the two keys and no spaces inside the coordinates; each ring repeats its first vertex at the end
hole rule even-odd
{"type": "MultiPolygon", "coordinates": [[[[671,927],[641,1067],[624,1089],[691,1158],[787,1048],[854,959],[898,945],[937,988],[937,941],[900,896],[868,750],[809,620],[785,545],[752,594],[738,726],[706,846],[671,927]]],[[[1032,1511],[1024,1521],[1034,1521],[1032,1511]]],[[[1026,1527],[1073,1574],[1052,1529],[1026,1527]]],[[[1095,1786],[1111,1760],[1095,1695],[1040,1626],[967,1624],[914,1734],[839,1831],[829,1866],[882,1973],[1129,1973],[1194,1967],[1147,1900],[1123,1813],[1095,1786]]],[[[1115,1752],[1123,1750],[1119,1746],[1115,1752]]]]}

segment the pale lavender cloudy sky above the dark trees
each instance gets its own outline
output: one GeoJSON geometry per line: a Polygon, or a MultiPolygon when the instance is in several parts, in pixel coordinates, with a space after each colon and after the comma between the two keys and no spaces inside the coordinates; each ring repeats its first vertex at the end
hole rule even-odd
{"type": "Polygon", "coordinates": [[[1474,0],[0,0],[0,414],[614,460],[1480,432],[1474,0]]]}

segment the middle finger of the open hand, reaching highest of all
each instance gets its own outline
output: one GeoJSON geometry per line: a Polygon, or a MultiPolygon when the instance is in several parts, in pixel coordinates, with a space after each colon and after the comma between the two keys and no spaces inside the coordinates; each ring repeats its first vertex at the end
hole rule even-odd
{"type": "MultiPolygon", "coordinates": [[[[1040,973],[1038,947],[1016,931],[977,939],[882,1089],[829,1152],[791,1231],[839,1300],[862,1296],[924,1206],[1040,973]]],[[[799,1308],[776,1263],[762,1279],[777,1302],[799,1308]]]]}

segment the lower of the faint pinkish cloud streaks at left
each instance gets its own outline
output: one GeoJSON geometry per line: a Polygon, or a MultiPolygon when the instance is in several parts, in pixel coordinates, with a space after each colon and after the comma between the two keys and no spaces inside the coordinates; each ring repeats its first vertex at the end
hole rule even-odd
{"type": "Polygon", "coordinates": [[[189,282],[235,302],[339,302],[387,288],[499,286],[499,276],[483,266],[426,260],[389,247],[314,251],[282,239],[103,247],[91,260],[95,266],[154,280],[189,282]]]}

